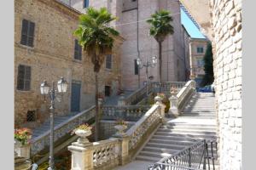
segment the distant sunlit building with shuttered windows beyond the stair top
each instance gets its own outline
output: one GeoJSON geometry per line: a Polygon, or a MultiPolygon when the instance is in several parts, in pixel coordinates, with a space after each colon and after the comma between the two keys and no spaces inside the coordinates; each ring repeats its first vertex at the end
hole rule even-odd
{"type": "Polygon", "coordinates": [[[206,38],[189,38],[189,65],[191,74],[195,76],[197,86],[205,75],[204,55],[207,51],[207,43],[206,38]]]}

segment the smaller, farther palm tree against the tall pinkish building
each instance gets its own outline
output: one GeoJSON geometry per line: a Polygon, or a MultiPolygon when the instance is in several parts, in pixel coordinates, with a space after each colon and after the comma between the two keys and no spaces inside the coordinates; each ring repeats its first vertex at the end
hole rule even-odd
{"type": "Polygon", "coordinates": [[[167,10],[156,11],[151,14],[151,18],[147,20],[150,24],[149,34],[153,36],[159,45],[159,77],[161,80],[161,69],[162,69],[162,42],[166,39],[169,34],[173,34],[173,27],[171,25],[172,16],[167,10]]]}

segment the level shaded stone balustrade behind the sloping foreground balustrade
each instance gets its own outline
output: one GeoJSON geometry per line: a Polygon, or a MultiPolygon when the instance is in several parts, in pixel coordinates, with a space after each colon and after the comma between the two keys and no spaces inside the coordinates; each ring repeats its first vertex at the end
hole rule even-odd
{"type": "Polygon", "coordinates": [[[104,105],[102,107],[102,119],[116,120],[121,118],[125,121],[137,121],[149,109],[150,105],[104,105]]]}

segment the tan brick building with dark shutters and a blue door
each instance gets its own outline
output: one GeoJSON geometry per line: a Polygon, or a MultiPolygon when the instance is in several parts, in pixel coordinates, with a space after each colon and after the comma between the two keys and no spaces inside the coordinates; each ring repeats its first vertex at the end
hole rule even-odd
{"type": "MultiPolygon", "coordinates": [[[[15,127],[34,127],[49,117],[39,86],[64,77],[67,93],[55,102],[55,114],[83,111],[94,105],[95,74],[73,31],[80,12],[55,0],[15,1],[15,127]]],[[[120,88],[119,38],[99,74],[102,95],[120,88]]]]}

